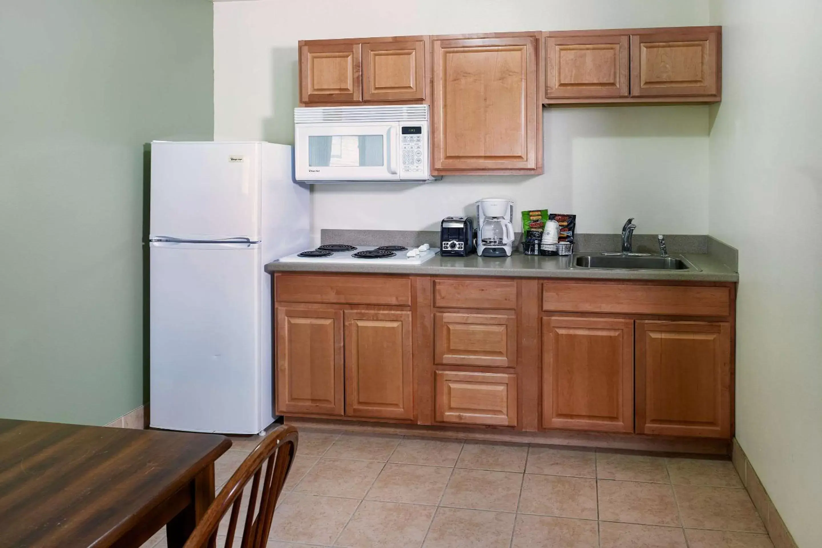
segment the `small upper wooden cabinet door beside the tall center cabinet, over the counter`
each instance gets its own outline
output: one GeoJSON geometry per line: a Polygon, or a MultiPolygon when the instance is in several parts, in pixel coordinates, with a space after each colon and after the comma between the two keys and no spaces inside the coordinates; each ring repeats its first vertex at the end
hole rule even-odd
{"type": "Polygon", "coordinates": [[[628,36],[545,39],[545,97],[627,97],[628,36]]]}

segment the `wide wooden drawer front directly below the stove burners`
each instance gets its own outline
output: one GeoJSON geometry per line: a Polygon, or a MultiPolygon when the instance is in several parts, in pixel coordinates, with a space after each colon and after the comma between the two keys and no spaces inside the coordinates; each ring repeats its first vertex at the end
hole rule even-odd
{"type": "Polygon", "coordinates": [[[278,302],[411,305],[411,279],[393,276],[277,274],[278,302]]]}

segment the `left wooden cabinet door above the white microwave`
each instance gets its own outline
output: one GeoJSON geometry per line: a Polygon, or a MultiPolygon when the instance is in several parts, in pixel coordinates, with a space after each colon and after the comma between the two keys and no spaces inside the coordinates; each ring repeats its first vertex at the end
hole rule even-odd
{"type": "Polygon", "coordinates": [[[335,103],[363,100],[360,44],[300,46],[300,101],[335,103]]]}

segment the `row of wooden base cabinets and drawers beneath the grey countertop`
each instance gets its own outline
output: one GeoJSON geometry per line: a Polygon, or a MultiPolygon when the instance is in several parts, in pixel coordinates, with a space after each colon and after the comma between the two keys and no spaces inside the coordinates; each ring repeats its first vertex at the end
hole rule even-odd
{"type": "Polygon", "coordinates": [[[273,277],[278,414],[649,450],[732,438],[736,283],[273,277]]]}

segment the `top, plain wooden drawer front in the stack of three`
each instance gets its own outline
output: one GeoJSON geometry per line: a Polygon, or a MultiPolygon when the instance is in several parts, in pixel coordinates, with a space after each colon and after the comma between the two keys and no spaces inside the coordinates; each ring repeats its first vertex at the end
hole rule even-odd
{"type": "Polygon", "coordinates": [[[513,280],[434,280],[434,306],[442,308],[516,308],[513,280]]]}

